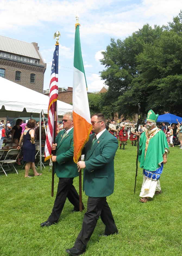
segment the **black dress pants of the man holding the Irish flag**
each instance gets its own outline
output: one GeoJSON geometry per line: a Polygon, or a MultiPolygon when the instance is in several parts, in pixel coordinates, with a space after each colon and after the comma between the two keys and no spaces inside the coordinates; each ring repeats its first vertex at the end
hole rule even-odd
{"type": "Polygon", "coordinates": [[[101,220],[106,226],[104,232],[105,235],[108,236],[118,232],[106,197],[89,197],[87,201],[87,212],[83,217],[82,229],[75,241],[74,247],[85,251],[99,216],[101,216],[101,220]]]}

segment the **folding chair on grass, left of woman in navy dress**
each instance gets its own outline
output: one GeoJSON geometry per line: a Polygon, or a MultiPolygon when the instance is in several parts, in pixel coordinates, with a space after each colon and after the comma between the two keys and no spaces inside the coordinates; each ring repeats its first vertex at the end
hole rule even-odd
{"type": "Polygon", "coordinates": [[[6,171],[10,171],[12,168],[14,168],[16,173],[18,174],[16,168],[14,167],[14,164],[17,161],[19,152],[20,151],[18,149],[10,149],[5,156],[5,159],[0,161],[0,170],[2,169],[2,171],[5,173],[6,176],[7,176],[6,171]],[[12,156],[16,156],[16,159],[10,159],[10,157],[12,156]],[[8,169],[5,169],[5,166],[7,166],[8,169]]]}

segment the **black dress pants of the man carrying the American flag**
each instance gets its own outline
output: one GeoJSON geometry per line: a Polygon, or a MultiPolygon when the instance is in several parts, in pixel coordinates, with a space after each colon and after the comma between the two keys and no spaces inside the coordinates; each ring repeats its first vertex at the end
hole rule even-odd
{"type": "MultiPolygon", "coordinates": [[[[73,186],[74,178],[59,178],[58,189],[56,198],[54,201],[54,206],[52,213],[48,218],[51,223],[56,223],[61,215],[62,209],[64,207],[66,198],[74,206],[75,211],[79,211],[79,195],[73,186]]],[[[82,208],[84,207],[82,203],[82,208]]]]}

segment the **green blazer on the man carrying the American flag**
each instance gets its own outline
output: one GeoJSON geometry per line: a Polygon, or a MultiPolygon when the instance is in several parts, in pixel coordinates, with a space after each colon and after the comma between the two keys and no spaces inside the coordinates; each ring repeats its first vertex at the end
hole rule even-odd
{"type": "Polygon", "coordinates": [[[73,129],[63,139],[64,130],[59,132],[56,137],[55,172],[59,178],[73,178],[79,175],[77,164],[73,161],[73,129]]]}

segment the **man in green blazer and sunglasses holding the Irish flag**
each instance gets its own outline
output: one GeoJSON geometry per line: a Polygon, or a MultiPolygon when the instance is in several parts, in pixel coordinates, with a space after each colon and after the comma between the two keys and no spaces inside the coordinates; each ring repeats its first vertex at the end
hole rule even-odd
{"type": "Polygon", "coordinates": [[[92,131],[95,133],[90,135],[85,146],[84,161],[77,163],[79,171],[84,168],[83,190],[88,196],[88,201],[82,229],[74,247],[66,249],[66,252],[73,256],[85,252],[99,216],[105,224],[104,236],[118,233],[106,201],[106,197],[114,190],[114,156],[118,148],[118,140],[105,129],[103,114],[92,115],[91,123],[92,131]]]}

